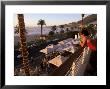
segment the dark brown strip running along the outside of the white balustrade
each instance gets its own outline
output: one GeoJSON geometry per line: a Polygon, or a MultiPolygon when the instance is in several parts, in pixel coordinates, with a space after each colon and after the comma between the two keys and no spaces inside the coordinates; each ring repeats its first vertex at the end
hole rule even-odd
{"type": "Polygon", "coordinates": [[[68,60],[66,60],[60,67],[55,69],[49,76],[65,76],[68,70],[71,68],[73,62],[79,57],[79,55],[83,52],[82,47],[79,47],[74,54],[70,56],[68,60]]]}

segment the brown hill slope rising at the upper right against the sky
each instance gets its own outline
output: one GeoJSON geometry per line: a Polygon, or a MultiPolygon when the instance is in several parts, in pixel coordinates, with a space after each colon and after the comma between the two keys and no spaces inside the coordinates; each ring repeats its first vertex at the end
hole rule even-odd
{"type": "MultiPolygon", "coordinates": [[[[96,20],[97,20],[97,14],[92,14],[92,15],[89,15],[89,16],[85,17],[84,20],[83,20],[83,23],[88,24],[88,23],[96,21],[96,20]]],[[[82,20],[78,21],[77,23],[81,24],[81,21],[82,20]]]]}

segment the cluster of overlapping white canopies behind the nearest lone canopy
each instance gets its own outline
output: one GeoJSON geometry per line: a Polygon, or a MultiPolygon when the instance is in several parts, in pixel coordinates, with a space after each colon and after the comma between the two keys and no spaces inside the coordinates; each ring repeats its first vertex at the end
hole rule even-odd
{"type": "Polygon", "coordinates": [[[57,45],[50,44],[45,49],[42,49],[40,52],[48,54],[53,51],[63,52],[64,50],[74,53],[75,48],[74,44],[79,44],[78,40],[74,40],[73,38],[69,38],[63,41],[58,42],[57,45]]]}

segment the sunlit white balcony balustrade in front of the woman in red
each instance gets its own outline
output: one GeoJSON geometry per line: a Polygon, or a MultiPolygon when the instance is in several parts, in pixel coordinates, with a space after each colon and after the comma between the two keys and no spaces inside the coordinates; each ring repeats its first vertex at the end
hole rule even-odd
{"type": "Polygon", "coordinates": [[[66,76],[83,76],[86,70],[87,64],[89,63],[91,51],[89,48],[84,48],[81,55],[75,60],[67,72],[66,76]]]}

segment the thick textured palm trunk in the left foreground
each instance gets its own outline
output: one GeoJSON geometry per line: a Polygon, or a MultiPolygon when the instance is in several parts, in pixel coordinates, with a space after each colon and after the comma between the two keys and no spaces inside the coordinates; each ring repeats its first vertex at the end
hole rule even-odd
{"type": "Polygon", "coordinates": [[[19,37],[20,37],[20,49],[22,53],[22,63],[23,69],[27,76],[30,75],[29,72],[29,60],[28,60],[28,51],[26,46],[26,36],[25,36],[25,24],[24,24],[24,15],[18,14],[18,25],[19,25],[19,37]]]}

